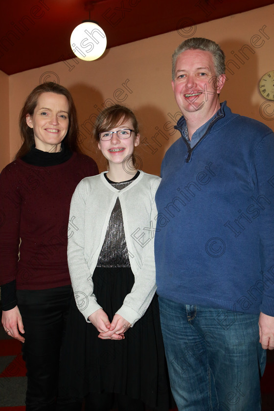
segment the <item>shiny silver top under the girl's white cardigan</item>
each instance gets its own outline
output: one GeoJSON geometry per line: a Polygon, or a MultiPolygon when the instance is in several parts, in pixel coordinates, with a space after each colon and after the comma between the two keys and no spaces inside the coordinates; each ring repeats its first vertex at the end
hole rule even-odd
{"type": "MultiPolygon", "coordinates": [[[[133,179],[121,183],[114,183],[106,176],[105,177],[114,188],[117,190],[122,190],[132,183],[138,175],[139,172],[137,172],[133,179]]],[[[105,241],[98,258],[97,267],[130,267],[119,198],[117,198],[111,213],[105,241]]]]}

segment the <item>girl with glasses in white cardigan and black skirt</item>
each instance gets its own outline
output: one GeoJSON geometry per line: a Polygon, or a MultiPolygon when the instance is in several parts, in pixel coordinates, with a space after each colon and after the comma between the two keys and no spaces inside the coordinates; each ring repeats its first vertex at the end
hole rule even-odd
{"type": "Polygon", "coordinates": [[[68,265],[74,300],[63,370],[64,395],[86,411],[168,410],[168,383],[155,295],[155,193],[160,178],[137,170],[135,115],[99,114],[96,145],[108,171],[85,178],[71,201],[68,265]],[[71,341],[73,341],[71,346],[71,341]],[[66,374],[66,375],[64,375],[66,374]],[[70,373],[71,374],[71,373],[70,373]]]}

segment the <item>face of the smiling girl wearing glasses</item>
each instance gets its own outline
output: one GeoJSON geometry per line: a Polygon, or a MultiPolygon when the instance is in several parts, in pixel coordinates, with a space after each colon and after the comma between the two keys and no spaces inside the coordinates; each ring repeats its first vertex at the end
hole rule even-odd
{"type": "MultiPolygon", "coordinates": [[[[119,131],[123,129],[133,130],[132,120],[124,119],[119,125],[112,128],[110,131],[119,131]]],[[[101,150],[103,156],[108,160],[111,167],[112,164],[124,164],[131,160],[134,148],[140,142],[140,135],[135,132],[131,133],[129,138],[119,138],[117,133],[112,135],[112,138],[107,141],[100,139],[98,142],[99,150],[101,150]]]]}

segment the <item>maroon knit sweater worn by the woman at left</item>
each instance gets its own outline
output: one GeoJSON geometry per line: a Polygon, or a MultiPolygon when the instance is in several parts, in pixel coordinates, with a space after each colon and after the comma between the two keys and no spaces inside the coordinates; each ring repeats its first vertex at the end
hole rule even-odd
{"type": "Polygon", "coordinates": [[[76,185],[98,174],[83,154],[42,167],[23,160],[0,174],[0,284],[16,279],[18,290],[40,290],[70,284],[67,263],[68,222],[76,185]],[[21,244],[20,244],[21,240],[21,244]],[[20,244],[20,258],[18,250],[20,244]]]}

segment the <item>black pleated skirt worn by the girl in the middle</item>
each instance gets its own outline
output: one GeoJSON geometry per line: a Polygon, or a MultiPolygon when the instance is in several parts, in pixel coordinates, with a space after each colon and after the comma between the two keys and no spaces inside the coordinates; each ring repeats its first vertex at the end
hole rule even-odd
{"type": "MultiPolygon", "coordinates": [[[[97,267],[92,279],[97,302],[112,321],[133,287],[134,274],[130,268],[97,267]]],[[[99,339],[73,298],[61,354],[60,391],[74,399],[90,392],[125,394],[167,411],[170,389],[157,296],[118,341],[99,339]]]]}

